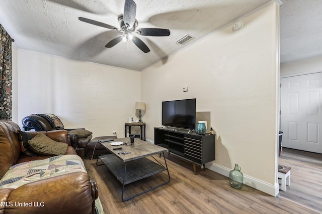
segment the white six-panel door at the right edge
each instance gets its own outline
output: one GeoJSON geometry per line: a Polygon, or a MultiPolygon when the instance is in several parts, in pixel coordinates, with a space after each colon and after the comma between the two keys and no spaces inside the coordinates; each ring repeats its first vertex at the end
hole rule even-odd
{"type": "Polygon", "coordinates": [[[281,78],[282,147],[322,153],[322,73],[281,78]]]}

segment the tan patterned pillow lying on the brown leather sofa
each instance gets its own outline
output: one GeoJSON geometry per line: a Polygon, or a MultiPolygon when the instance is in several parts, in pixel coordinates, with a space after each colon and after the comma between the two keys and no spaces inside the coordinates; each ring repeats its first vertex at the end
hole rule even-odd
{"type": "Polygon", "coordinates": [[[28,147],[37,154],[42,155],[63,155],[67,151],[67,143],[57,142],[43,133],[38,133],[34,138],[28,140],[28,147]]]}

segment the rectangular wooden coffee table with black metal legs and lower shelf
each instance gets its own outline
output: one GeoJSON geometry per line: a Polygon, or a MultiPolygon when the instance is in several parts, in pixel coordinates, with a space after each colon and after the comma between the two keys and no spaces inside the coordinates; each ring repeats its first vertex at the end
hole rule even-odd
{"type": "MultiPolygon", "coordinates": [[[[129,145],[130,138],[117,138],[114,142],[123,142],[125,144],[119,146],[111,145],[111,142],[100,142],[101,148],[108,149],[111,154],[99,155],[96,161],[96,165],[106,165],[109,170],[114,174],[117,180],[122,183],[122,200],[126,201],[159,186],[165,185],[170,182],[170,174],[165,157],[165,152],[168,152],[167,148],[148,143],[146,141],[135,138],[134,144],[129,145]],[[122,147],[122,149],[113,150],[115,147],[122,147]],[[130,152],[126,154],[119,154],[119,152],[130,152]],[[163,154],[164,165],[160,163],[152,155],[163,154]],[[151,156],[156,162],[146,158],[151,156]],[[98,164],[98,160],[103,163],[98,164]],[[147,190],[144,190],[138,194],[132,195],[127,198],[123,198],[125,185],[149,177],[151,175],[166,171],[168,172],[169,180],[164,183],[153,186],[147,190]]],[[[101,149],[100,148],[100,149],[101,149]]]]}

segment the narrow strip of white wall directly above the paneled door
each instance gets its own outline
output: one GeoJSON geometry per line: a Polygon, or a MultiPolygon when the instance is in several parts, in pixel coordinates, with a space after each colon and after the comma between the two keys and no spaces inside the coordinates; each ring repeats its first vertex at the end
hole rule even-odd
{"type": "Polygon", "coordinates": [[[283,63],[280,72],[281,77],[322,72],[322,56],[283,63]]]}

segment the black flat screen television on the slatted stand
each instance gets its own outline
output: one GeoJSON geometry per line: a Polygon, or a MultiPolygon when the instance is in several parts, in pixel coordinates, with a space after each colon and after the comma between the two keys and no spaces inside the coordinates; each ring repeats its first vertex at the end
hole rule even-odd
{"type": "Polygon", "coordinates": [[[196,129],[196,99],[162,102],[162,125],[196,129]]]}

